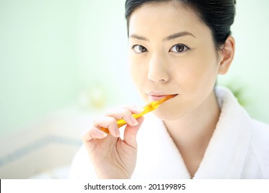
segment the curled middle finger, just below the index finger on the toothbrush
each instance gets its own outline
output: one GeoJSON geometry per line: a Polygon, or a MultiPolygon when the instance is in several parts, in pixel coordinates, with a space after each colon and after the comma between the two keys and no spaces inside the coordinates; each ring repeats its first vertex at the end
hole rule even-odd
{"type": "Polygon", "coordinates": [[[99,119],[94,120],[94,127],[107,128],[110,134],[114,137],[119,137],[119,128],[117,126],[117,121],[112,116],[102,116],[99,119]]]}

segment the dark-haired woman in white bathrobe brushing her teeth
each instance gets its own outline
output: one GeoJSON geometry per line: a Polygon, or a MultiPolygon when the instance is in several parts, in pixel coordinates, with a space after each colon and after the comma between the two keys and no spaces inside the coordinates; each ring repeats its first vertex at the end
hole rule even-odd
{"type": "Polygon", "coordinates": [[[215,88],[235,54],[234,0],[126,1],[132,79],[155,115],[108,110],[83,134],[71,177],[269,179],[269,127],[215,88]],[[128,125],[119,136],[117,120],[128,125]],[[101,131],[108,128],[110,134],[101,131]],[[90,158],[90,159],[89,159],[90,158]]]}

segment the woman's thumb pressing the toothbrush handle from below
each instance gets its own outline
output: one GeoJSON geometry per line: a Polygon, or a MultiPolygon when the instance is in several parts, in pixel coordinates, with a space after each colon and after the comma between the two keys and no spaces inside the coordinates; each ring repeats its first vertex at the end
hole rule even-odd
{"type": "Polygon", "coordinates": [[[125,141],[125,143],[127,143],[128,145],[134,148],[137,148],[137,132],[139,128],[141,127],[143,120],[144,120],[143,116],[139,117],[137,119],[138,125],[133,126],[133,127],[130,125],[127,125],[124,130],[123,141],[125,141]]]}

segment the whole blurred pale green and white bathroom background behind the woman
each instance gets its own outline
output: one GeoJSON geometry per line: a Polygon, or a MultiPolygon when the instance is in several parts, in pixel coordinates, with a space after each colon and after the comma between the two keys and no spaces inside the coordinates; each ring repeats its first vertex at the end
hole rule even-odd
{"type": "MultiPolygon", "coordinates": [[[[93,116],[143,105],[128,72],[124,0],[0,0],[0,179],[66,179],[93,116]]],[[[220,76],[269,123],[269,1],[237,0],[220,76]]]]}

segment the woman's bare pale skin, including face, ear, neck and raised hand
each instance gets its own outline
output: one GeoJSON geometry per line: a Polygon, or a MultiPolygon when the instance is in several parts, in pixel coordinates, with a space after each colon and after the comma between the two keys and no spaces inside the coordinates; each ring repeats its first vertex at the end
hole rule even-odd
{"type": "MultiPolygon", "coordinates": [[[[213,88],[218,74],[226,74],[232,63],[235,41],[230,36],[216,50],[210,28],[191,9],[172,2],[148,3],[132,12],[129,48],[132,79],[147,103],[177,94],[154,113],[165,123],[193,177],[219,119],[213,88]]],[[[131,178],[143,123],[131,114],[139,112],[135,107],[108,110],[83,135],[100,179],[131,178]],[[128,123],[123,140],[118,119],[128,123]],[[108,128],[110,134],[99,128],[108,128]]]]}

